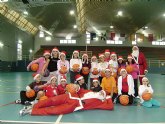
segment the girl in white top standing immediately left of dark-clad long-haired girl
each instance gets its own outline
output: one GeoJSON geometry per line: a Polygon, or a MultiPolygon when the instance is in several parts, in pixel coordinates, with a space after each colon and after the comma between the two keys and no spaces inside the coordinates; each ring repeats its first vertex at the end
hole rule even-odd
{"type": "Polygon", "coordinates": [[[79,59],[79,51],[74,50],[72,59],[70,59],[70,82],[73,83],[75,81],[75,76],[80,73],[82,69],[82,61],[79,59]],[[78,65],[78,70],[74,70],[74,65],[78,65]]]}

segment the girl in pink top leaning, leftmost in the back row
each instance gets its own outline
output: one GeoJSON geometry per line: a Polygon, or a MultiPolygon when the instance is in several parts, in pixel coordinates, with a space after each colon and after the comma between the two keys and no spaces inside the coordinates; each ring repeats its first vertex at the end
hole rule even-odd
{"type": "MultiPolygon", "coordinates": [[[[30,70],[30,66],[34,63],[37,63],[39,65],[39,69],[37,70],[36,74],[41,74],[42,76],[44,75],[44,72],[47,68],[47,64],[49,62],[49,57],[50,57],[50,52],[48,50],[44,51],[43,57],[40,57],[34,61],[32,61],[28,66],[27,70],[30,70]]],[[[42,79],[43,80],[43,79],[42,79]]]]}

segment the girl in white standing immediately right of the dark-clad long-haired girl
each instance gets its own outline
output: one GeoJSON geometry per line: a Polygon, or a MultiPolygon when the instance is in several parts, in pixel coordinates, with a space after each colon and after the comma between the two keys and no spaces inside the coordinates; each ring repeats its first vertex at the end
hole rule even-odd
{"type": "Polygon", "coordinates": [[[98,62],[97,62],[96,56],[92,56],[91,58],[90,87],[92,86],[94,78],[99,78],[99,68],[98,68],[98,62]],[[94,73],[94,71],[97,71],[97,72],[94,73]]]}

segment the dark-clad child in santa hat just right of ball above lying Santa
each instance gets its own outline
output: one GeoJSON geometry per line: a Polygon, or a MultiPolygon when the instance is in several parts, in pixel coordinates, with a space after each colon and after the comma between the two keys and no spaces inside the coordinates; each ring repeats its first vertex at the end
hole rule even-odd
{"type": "Polygon", "coordinates": [[[75,76],[75,79],[76,79],[76,84],[78,84],[79,86],[80,86],[80,88],[82,88],[82,89],[87,89],[87,85],[86,85],[86,83],[84,82],[84,77],[82,76],[82,75],[80,75],[80,74],[77,74],[76,76],[75,76]]]}

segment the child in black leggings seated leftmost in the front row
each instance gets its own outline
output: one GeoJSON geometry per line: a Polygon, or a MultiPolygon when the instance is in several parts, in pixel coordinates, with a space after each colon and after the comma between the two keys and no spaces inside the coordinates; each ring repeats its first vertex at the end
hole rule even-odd
{"type": "Polygon", "coordinates": [[[41,75],[37,74],[34,77],[34,82],[32,82],[31,84],[29,84],[26,87],[26,91],[21,91],[20,92],[20,99],[16,100],[15,103],[16,104],[25,104],[28,102],[31,102],[33,100],[35,100],[35,98],[37,97],[37,93],[42,90],[39,86],[42,86],[44,83],[41,81],[41,75]],[[26,92],[29,92],[31,89],[33,89],[35,91],[35,95],[34,97],[28,98],[26,96],[26,92]]]}

